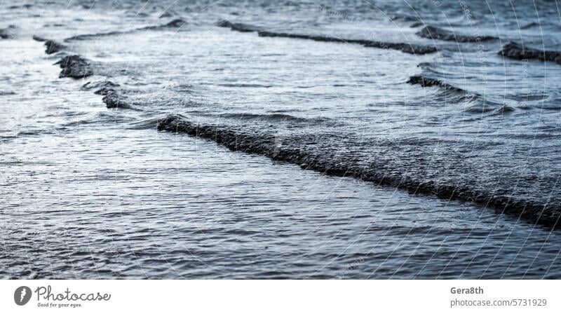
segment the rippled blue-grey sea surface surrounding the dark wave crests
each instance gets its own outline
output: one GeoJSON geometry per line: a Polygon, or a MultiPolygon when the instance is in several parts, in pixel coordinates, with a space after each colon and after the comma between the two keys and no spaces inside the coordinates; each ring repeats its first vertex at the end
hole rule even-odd
{"type": "Polygon", "coordinates": [[[217,144],[559,208],[561,65],[497,54],[510,41],[561,51],[559,14],[532,1],[0,2],[0,29],[15,25],[0,39],[0,278],[561,278],[560,231],[501,213],[510,204],[217,144]],[[496,39],[427,39],[425,25],[496,39]],[[65,48],[47,55],[34,35],[65,48]],[[65,55],[94,75],[59,78],[65,55]],[[419,74],[442,84],[407,83],[419,74]],[[128,108],[107,109],[90,88],[104,81],[128,108]],[[158,132],[168,114],[216,137],[158,132]]]}

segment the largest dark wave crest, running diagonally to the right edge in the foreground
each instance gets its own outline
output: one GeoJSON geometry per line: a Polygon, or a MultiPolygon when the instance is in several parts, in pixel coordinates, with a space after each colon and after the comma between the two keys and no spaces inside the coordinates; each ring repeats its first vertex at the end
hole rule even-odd
{"type": "MultiPolygon", "coordinates": [[[[224,125],[204,125],[193,123],[184,116],[170,115],[157,124],[159,131],[182,132],[187,135],[210,139],[232,151],[256,153],[299,165],[303,169],[316,170],[325,175],[354,177],[381,186],[393,186],[410,193],[434,195],[447,200],[462,200],[494,207],[501,212],[514,214],[520,218],[546,226],[557,226],[561,218],[561,205],[541,203],[535,199],[515,198],[508,191],[480,191],[475,186],[448,185],[433,182],[423,177],[415,178],[399,169],[384,165],[384,161],[372,161],[368,166],[352,156],[340,156],[337,151],[325,151],[316,146],[317,137],[309,135],[293,136],[290,144],[279,142],[274,135],[266,132],[242,132],[224,125]]],[[[333,137],[329,137],[333,142],[333,137]]]]}

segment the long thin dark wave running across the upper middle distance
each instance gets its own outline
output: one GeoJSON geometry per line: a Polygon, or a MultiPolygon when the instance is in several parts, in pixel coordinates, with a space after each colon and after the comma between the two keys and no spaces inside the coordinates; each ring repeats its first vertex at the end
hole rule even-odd
{"type": "Polygon", "coordinates": [[[334,43],[356,43],[365,47],[381,48],[400,50],[403,53],[424,55],[426,53],[435,53],[437,48],[434,46],[421,46],[414,43],[387,43],[383,41],[370,41],[364,39],[342,39],[333,36],[319,36],[319,35],[306,35],[306,34],[292,34],[281,32],[269,32],[262,30],[260,27],[254,27],[245,24],[232,23],[229,21],[222,21],[218,23],[219,27],[229,27],[236,32],[257,32],[261,37],[283,37],[291,39],[306,39],[311,41],[323,41],[334,43]]]}

